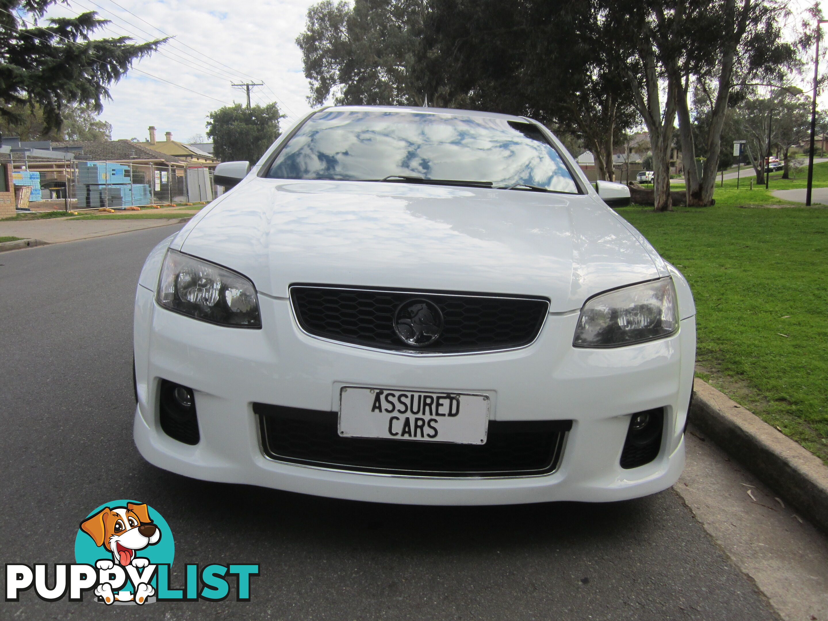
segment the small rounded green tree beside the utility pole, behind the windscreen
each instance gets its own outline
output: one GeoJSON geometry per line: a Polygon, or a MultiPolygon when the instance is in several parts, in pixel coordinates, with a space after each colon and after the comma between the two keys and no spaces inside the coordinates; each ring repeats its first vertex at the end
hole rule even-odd
{"type": "Polygon", "coordinates": [[[220,161],[249,161],[253,164],[279,137],[279,112],[276,103],[241,103],[224,106],[207,115],[207,136],[214,142],[213,153],[220,161]]]}

